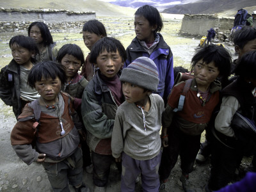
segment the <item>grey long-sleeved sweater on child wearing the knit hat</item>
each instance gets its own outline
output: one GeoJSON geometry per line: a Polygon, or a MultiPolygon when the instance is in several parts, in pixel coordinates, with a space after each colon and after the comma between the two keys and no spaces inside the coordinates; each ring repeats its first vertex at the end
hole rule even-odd
{"type": "Polygon", "coordinates": [[[149,98],[150,109],[144,111],[146,131],[141,109],[134,103],[126,101],[118,107],[111,140],[113,157],[120,157],[121,153],[125,152],[133,159],[148,160],[159,153],[161,147],[159,131],[164,102],[157,94],[151,94],[149,98]]]}

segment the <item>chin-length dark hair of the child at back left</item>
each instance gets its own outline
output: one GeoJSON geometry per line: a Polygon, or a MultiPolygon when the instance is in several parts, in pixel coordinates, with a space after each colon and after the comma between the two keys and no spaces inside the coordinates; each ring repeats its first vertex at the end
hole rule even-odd
{"type": "Polygon", "coordinates": [[[32,22],[28,27],[28,36],[30,36],[30,30],[33,26],[38,26],[38,28],[40,29],[40,33],[42,35],[43,43],[45,46],[53,44],[52,35],[49,31],[49,28],[46,24],[44,24],[44,22],[32,22]]]}

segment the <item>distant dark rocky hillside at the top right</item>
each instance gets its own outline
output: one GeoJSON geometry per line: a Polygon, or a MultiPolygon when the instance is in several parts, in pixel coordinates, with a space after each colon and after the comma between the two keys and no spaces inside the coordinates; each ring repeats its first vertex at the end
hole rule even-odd
{"type": "Polygon", "coordinates": [[[255,0],[202,0],[195,3],[179,4],[167,8],[163,13],[173,14],[215,14],[232,17],[237,10],[245,8],[249,13],[256,10],[255,0]]]}

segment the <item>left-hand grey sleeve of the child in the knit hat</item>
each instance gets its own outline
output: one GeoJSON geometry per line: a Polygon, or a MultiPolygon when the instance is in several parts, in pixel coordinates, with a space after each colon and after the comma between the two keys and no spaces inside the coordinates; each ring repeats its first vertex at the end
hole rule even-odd
{"type": "Polygon", "coordinates": [[[124,150],[124,139],[123,138],[125,136],[123,136],[123,130],[124,130],[124,127],[123,127],[122,115],[120,114],[119,110],[117,109],[115,124],[114,124],[112,138],[111,138],[112,156],[115,158],[120,157],[124,150]]]}

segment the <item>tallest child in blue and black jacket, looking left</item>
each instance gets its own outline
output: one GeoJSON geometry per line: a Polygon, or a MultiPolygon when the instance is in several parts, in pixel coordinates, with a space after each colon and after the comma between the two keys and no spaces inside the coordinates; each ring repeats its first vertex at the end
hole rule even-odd
{"type": "Polygon", "coordinates": [[[144,5],[138,8],[134,17],[134,29],[136,37],[126,49],[127,60],[124,67],[140,56],[147,56],[157,66],[159,84],[156,93],[164,103],[171,92],[173,78],[173,55],[170,47],[164,42],[163,36],[157,31],[163,28],[161,15],[156,8],[144,5]]]}

